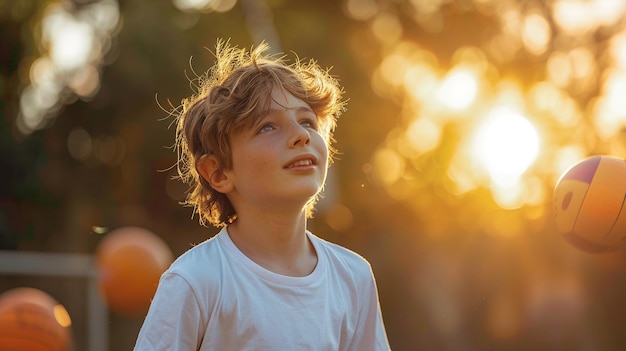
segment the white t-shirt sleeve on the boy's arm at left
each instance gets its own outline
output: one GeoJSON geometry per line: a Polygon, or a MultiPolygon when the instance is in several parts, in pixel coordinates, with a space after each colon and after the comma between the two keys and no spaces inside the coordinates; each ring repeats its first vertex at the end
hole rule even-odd
{"type": "Polygon", "coordinates": [[[165,273],[143,322],[135,351],[197,350],[204,333],[197,296],[180,275],[165,273]]]}

